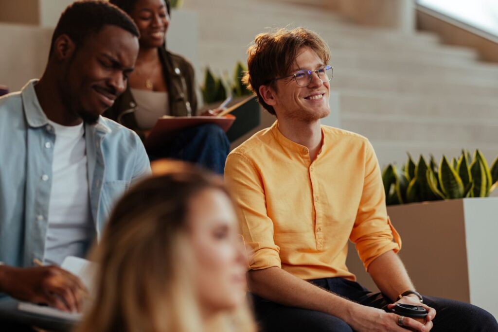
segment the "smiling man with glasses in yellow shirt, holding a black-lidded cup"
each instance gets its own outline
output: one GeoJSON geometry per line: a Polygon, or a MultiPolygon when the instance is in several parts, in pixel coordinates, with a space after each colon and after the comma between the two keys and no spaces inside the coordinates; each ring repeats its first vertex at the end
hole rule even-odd
{"type": "Polygon", "coordinates": [[[396,255],[372,145],[320,124],[330,112],[325,42],[281,29],[256,36],[248,54],[246,83],[277,121],[229,155],[225,177],[252,249],[249,288],[263,330],[497,331],[480,308],[415,291],[396,255]],[[382,293],[348,271],[349,240],[382,293]],[[393,303],[423,306],[427,321],[387,312],[393,303]]]}

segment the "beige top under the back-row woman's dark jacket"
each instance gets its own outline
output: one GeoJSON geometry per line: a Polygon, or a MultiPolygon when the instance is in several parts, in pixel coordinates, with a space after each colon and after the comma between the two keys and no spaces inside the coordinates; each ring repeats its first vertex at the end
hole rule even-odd
{"type": "Polygon", "coordinates": [[[131,89],[131,94],[137,105],[135,119],[140,130],[152,129],[159,117],[168,115],[167,92],[131,89]]]}

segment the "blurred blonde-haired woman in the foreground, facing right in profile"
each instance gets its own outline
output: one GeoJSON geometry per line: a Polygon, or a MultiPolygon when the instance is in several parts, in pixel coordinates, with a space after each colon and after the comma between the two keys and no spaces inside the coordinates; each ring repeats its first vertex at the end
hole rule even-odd
{"type": "Polygon", "coordinates": [[[181,162],[117,204],[92,257],[93,307],[78,332],[255,332],[236,213],[222,181],[181,162]]]}

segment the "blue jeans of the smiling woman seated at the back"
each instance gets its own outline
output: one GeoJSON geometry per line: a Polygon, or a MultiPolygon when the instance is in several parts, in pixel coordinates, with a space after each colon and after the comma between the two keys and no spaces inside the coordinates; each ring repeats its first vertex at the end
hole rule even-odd
{"type": "Polygon", "coordinates": [[[150,161],[172,158],[191,162],[223,174],[230,152],[230,142],[225,132],[216,124],[201,124],[184,129],[158,152],[149,153],[150,161]]]}

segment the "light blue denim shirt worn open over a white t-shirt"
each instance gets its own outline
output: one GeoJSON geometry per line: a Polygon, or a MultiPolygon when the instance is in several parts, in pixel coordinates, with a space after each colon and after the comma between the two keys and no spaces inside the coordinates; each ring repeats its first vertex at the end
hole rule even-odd
{"type": "MultiPolygon", "coordinates": [[[[55,133],[30,81],[0,98],[0,262],[43,260],[55,133]]],[[[105,117],[85,124],[90,206],[97,237],[130,183],[150,173],[138,136],[105,117]]],[[[81,193],[81,195],[88,195],[81,193]]]]}

